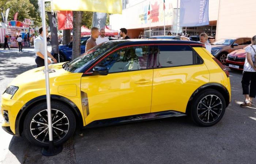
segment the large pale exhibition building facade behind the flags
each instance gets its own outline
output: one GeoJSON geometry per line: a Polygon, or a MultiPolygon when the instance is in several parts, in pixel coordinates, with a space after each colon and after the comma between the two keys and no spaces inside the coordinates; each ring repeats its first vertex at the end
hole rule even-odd
{"type": "MultiPolygon", "coordinates": [[[[179,7],[179,4],[178,4],[179,7]]],[[[209,0],[209,25],[199,27],[182,27],[182,33],[200,35],[206,32],[216,39],[230,37],[244,37],[256,35],[256,0],[209,0]],[[242,7],[242,8],[241,8],[242,7]],[[237,33],[239,35],[235,35],[237,33]]],[[[110,15],[110,25],[115,30],[127,28],[131,38],[144,38],[155,35],[164,35],[172,32],[173,13],[177,9],[177,0],[129,0],[123,7],[122,14],[110,15]],[[148,16],[148,7],[151,5],[151,16],[148,16]],[[165,23],[164,23],[165,15],[165,23]]]]}

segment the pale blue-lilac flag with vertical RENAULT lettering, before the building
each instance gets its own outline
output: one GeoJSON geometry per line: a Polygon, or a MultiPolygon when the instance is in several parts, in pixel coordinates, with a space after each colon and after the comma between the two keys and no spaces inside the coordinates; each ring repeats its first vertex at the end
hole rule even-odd
{"type": "Polygon", "coordinates": [[[194,27],[209,24],[209,0],[180,0],[180,26],[194,27]]]}

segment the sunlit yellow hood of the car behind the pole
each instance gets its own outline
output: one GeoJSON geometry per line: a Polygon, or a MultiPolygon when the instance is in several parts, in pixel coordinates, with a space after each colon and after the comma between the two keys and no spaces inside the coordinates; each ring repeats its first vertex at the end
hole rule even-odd
{"type": "MultiPolygon", "coordinates": [[[[64,82],[65,80],[69,79],[70,77],[75,77],[75,74],[79,74],[79,76],[82,76],[82,73],[70,73],[62,68],[62,65],[64,63],[57,63],[53,65],[49,65],[49,80],[50,80],[50,86],[59,86],[58,82],[64,82]],[[72,75],[71,75],[72,74],[72,75]]],[[[23,87],[23,88],[29,88],[31,86],[37,86],[38,88],[45,88],[44,86],[41,86],[42,83],[45,84],[42,81],[45,81],[45,74],[44,74],[45,67],[39,67],[35,68],[29,71],[26,71],[20,75],[18,75],[11,83],[10,85],[23,87]]],[[[10,86],[9,85],[9,86],[10,86]]],[[[37,88],[36,87],[36,88],[37,88]]]]}

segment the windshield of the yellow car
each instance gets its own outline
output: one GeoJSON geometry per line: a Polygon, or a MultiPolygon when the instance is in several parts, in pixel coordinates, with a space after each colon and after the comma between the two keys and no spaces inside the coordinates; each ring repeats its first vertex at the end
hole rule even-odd
{"type": "Polygon", "coordinates": [[[110,48],[114,47],[116,45],[116,43],[117,42],[114,42],[114,41],[103,42],[103,43],[91,48],[90,50],[88,50],[87,52],[85,52],[84,54],[79,56],[78,58],[76,58],[70,62],[64,63],[63,68],[66,71],[69,71],[72,73],[79,73],[83,69],[84,66],[90,65],[103,52],[106,52],[110,48]]]}

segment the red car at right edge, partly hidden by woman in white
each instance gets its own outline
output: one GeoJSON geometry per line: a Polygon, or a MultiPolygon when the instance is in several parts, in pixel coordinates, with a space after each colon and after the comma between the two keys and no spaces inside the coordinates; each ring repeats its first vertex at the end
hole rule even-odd
{"type": "Polygon", "coordinates": [[[229,67],[231,70],[243,70],[246,58],[246,47],[235,50],[228,54],[225,66],[229,67]]]}

